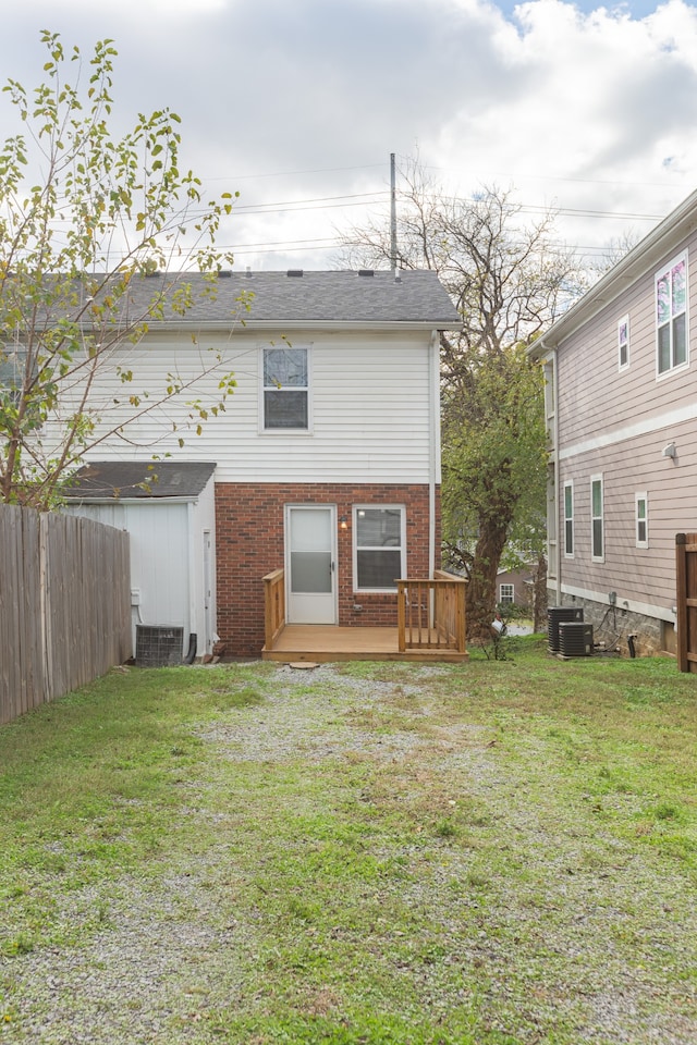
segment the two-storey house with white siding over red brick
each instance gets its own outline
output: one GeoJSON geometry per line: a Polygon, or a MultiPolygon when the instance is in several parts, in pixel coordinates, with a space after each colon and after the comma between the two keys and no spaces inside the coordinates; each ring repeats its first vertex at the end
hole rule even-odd
{"type": "MultiPolygon", "coordinates": [[[[129,307],[142,311],[172,279],[133,281],[129,307]]],[[[196,278],[193,284],[196,292],[196,278]]],[[[215,519],[204,513],[193,537],[191,526],[184,537],[173,501],[164,513],[161,490],[151,514],[140,495],[112,506],[136,545],[148,527],[157,541],[160,526],[168,540],[193,541],[187,568],[162,565],[157,576],[169,576],[157,586],[140,582],[150,564],[134,549],[140,616],[188,622],[199,653],[218,635],[228,654],[256,655],[262,578],[285,566],[289,623],[395,625],[396,577],[431,577],[440,564],[439,332],[457,328],[460,317],[436,274],[220,273],[212,296],[193,296],[186,315],[166,311],[137,345],[114,354],[95,390],[106,431],[120,411],[133,413],[124,396],[155,402],[168,374],[186,383],[211,367],[191,391],[88,455],[88,465],[105,469],[154,454],[178,465],[215,463],[215,519]],[[134,373],[125,393],[119,367],[134,373]],[[236,388],[216,414],[229,370],[236,388]],[[197,433],[200,406],[208,417],[197,433]],[[201,624],[204,528],[213,532],[217,580],[209,625],[201,624]],[[320,594],[313,586],[322,598],[304,598],[320,594]],[[187,600],[187,613],[174,608],[187,600]]],[[[166,475],[169,465],[157,467],[166,475]]],[[[84,502],[82,487],[69,495],[84,502]]],[[[195,494],[201,512],[207,496],[195,494]]],[[[96,511],[108,514],[103,502],[96,511]]],[[[180,554],[173,543],[170,561],[180,554]]]]}

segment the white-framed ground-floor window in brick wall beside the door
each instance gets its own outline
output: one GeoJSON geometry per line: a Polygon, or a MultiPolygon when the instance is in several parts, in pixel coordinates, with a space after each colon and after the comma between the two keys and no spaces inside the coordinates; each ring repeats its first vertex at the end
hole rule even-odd
{"type": "Polygon", "coordinates": [[[406,576],[404,508],[354,508],[354,578],[357,591],[395,591],[406,576]]]}

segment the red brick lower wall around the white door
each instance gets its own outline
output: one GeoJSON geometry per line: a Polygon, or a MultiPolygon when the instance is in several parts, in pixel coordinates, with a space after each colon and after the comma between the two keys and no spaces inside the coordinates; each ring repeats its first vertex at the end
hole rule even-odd
{"type": "MultiPolygon", "coordinates": [[[[437,491],[436,548],[440,548],[437,491]]],[[[264,647],[262,578],[283,563],[284,506],[333,504],[338,530],[339,624],[396,626],[396,595],[353,590],[352,508],[356,504],[406,506],[409,577],[428,577],[428,485],[367,483],[216,483],[218,634],[232,656],[258,656],[264,647]],[[354,608],[355,605],[360,611],[354,608]]],[[[437,556],[437,566],[440,556],[437,556]]]]}

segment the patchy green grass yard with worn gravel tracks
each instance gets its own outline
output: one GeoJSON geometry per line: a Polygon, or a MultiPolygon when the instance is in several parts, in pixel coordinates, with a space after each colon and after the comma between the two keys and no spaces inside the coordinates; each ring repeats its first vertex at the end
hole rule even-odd
{"type": "Polygon", "coordinates": [[[0,1042],[697,1040],[697,677],[120,669],[0,727],[0,1042]]]}

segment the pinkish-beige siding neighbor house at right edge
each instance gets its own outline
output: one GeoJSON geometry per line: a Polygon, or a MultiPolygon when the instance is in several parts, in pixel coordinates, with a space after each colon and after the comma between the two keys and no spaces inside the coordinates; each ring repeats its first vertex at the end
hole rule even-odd
{"type": "Polygon", "coordinates": [[[697,192],[539,339],[549,604],[675,650],[675,534],[697,531],[697,192]]]}

